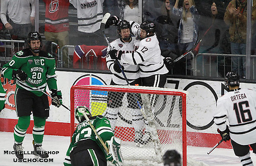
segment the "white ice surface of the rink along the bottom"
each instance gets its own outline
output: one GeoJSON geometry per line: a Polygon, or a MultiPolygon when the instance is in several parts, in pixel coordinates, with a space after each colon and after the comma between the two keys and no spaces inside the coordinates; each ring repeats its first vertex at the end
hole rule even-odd
{"type": "MultiPolygon", "coordinates": [[[[28,154],[24,155],[26,158],[25,161],[31,159],[31,162],[18,162],[14,154],[7,154],[7,151],[13,151],[13,133],[8,132],[0,132],[1,136],[1,152],[0,152],[0,165],[1,166],[11,166],[11,165],[63,165],[63,161],[66,155],[66,151],[68,149],[70,143],[70,137],[64,136],[51,136],[45,135],[43,142],[43,149],[49,151],[51,153],[59,152],[58,154],[49,154],[49,158],[44,161],[38,160],[31,154],[33,151],[32,146],[32,134],[26,134],[23,147],[24,151],[28,154]]],[[[201,148],[201,147],[187,147],[188,160],[192,159],[192,164],[194,166],[202,165],[212,165],[212,166],[220,166],[220,165],[232,165],[232,166],[241,166],[240,160],[237,156],[234,155],[232,149],[220,149],[216,148],[209,155],[207,152],[211,148],[201,148]]],[[[256,163],[256,156],[251,152],[251,158],[254,164],[256,163]]],[[[110,164],[109,164],[110,165],[110,164]]],[[[141,161],[133,161],[129,165],[145,165],[141,161]]],[[[151,165],[163,165],[152,163],[151,165]]],[[[147,166],[147,165],[146,165],[147,166]]]]}

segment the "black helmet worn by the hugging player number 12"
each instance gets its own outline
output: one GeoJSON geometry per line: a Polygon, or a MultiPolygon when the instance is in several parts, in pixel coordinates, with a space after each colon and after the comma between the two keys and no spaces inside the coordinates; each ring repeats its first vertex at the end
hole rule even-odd
{"type": "Polygon", "coordinates": [[[141,30],[145,30],[146,31],[146,37],[150,37],[154,35],[155,32],[155,24],[154,22],[152,22],[151,20],[146,20],[145,22],[143,22],[139,28],[139,30],[137,31],[137,36],[139,37],[139,39],[143,39],[141,37],[141,30]]]}

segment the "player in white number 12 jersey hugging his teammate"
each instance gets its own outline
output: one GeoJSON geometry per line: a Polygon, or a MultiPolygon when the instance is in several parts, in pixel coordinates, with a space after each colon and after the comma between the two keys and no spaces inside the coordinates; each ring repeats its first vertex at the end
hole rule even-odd
{"type": "Polygon", "coordinates": [[[159,41],[156,38],[155,24],[145,21],[141,25],[130,22],[131,31],[140,39],[139,48],[132,53],[121,53],[112,50],[110,56],[121,60],[122,63],[140,66],[142,86],[164,87],[168,70],[164,64],[159,41]]]}

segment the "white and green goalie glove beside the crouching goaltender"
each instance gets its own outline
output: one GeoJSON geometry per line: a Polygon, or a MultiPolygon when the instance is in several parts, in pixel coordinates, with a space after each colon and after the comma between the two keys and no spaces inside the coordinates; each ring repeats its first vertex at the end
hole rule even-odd
{"type": "MultiPolygon", "coordinates": [[[[106,146],[109,149],[109,153],[107,155],[107,160],[112,162],[113,164],[118,164],[118,162],[123,162],[123,156],[121,154],[121,139],[116,137],[111,137],[110,140],[106,141],[106,146]]],[[[116,165],[117,165],[116,164],[116,165]]],[[[119,164],[118,164],[119,165],[119,164]]]]}

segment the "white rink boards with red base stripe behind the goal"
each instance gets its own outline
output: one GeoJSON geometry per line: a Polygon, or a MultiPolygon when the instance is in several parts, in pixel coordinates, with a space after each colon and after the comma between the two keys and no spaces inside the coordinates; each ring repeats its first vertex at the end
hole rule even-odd
{"type": "MultiPolygon", "coordinates": [[[[73,85],[109,85],[111,74],[56,71],[58,89],[63,94],[63,104],[70,108],[70,88],[73,85]]],[[[7,90],[5,109],[0,113],[0,131],[13,132],[17,123],[14,105],[15,84],[3,80],[7,90]]],[[[225,94],[224,81],[167,78],[166,88],[186,90],[187,97],[187,144],[199,147],[212,147],[221,137],[216,132],[212,114],[218,97],[225,94]]],[[[241,82],[241,88],[255,90],[254,84],[241,82]]],[[[50,104],[50,102],[49,102],[50,104]]],[[[106,107],[106,103],[102,103],[106,107]]],[[[93,103],[92,103],[93,107],[93,103]]],[[[27,133],[32,133],[33,120],[27,133]]],[[[50,105],[50,117],[45,126],[47,135],[70,135],[70,112],[64,107],[50,105]]],[[[221,145],[230,148],[226,142],[221,145]]]]}

